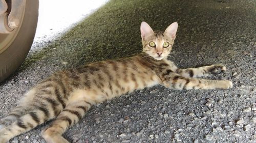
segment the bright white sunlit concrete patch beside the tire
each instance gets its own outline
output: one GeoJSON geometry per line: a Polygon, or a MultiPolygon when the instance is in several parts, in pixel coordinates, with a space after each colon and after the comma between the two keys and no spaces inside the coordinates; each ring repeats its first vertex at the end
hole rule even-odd
{"type": "Polygon", "coordinates": [[[59,38],[106,2],[108,0],[39,0],[37,30],[32,48],[35,48],[37,43],[59,38]]]}

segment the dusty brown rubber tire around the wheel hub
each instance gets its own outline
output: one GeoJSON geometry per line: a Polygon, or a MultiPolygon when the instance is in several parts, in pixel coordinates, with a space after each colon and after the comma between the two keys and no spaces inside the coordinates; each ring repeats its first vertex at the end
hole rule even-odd
{"type": "Polygon", "coordinates": [[[0,82],[10,76],[28,55],[36,32],[38,5],[38,0],[27,0],[25,15],[16,38],[0,53],[0,82]]]}

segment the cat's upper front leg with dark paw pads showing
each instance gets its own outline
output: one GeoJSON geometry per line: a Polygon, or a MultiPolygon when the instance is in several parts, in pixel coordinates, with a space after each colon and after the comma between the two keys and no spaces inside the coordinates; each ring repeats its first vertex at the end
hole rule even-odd
{"type": "Polygon", "coordinates": [[[226,70],[227,68],[223,65],[211,65],[199,68],[177,69],[176,73],[183,77],[201,77],[211,74],[219,74],[226,70]]]}

